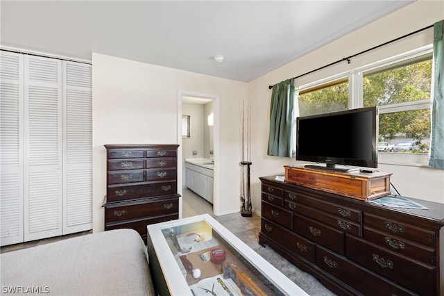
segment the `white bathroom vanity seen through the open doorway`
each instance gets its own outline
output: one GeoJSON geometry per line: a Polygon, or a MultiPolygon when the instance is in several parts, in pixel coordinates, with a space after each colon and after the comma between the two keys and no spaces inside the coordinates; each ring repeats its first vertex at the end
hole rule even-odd
{"type": "Polygon", "coordinates": [[[210,158],[185,159],[185,186],[213,203],[214,163],[210,158]]]}

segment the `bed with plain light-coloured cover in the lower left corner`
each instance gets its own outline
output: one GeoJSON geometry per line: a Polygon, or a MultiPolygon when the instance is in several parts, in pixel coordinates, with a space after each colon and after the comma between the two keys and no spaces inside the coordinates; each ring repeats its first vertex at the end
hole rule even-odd
{"type": "Polygon", "coordinates": [[[155,295],[146,246],[116,229],[0,254],[1,294],[155,295]]]}

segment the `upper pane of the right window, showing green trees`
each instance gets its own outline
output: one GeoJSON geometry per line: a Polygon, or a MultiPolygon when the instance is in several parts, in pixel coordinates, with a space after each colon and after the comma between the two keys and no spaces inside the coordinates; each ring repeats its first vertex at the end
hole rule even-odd
{"type": "Polygon", "coordinates": [[[432,59],[384,72],[364,74],[364,106],[383,106],[430,98],[432,59]]]}

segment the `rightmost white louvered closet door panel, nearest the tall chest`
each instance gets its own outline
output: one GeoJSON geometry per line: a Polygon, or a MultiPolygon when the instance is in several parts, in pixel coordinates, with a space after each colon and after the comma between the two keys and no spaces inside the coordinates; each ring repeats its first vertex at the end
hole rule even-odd
{"type": "Polygon", "coordinates": [[[63,234],[92,229],[92,70],[63,61],[63,234]]]}

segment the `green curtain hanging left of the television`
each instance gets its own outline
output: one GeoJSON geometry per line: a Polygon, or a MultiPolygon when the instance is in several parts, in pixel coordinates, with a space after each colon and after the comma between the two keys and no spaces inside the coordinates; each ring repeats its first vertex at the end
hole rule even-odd
{"type": "Polygon", "coordinates": [[[292,157],[294,150],[294,79],[273,86],[268,155],[292,157]]]}

